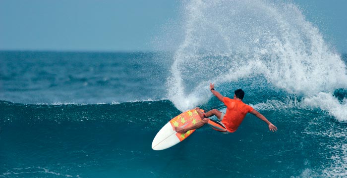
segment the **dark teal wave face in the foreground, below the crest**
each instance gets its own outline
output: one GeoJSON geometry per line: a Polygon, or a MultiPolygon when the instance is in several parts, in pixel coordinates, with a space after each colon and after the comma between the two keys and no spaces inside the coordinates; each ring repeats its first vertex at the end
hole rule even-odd
{"type": "Polygon", "coordinates": [[[180,113],[169,100],[0,101],[0,177],[345,177],[346,123],[298,104],[253,105],[276,124],[276,134],[247,115],[233,134],[203,127],[172,148],[154,151],[155,134],[180,113]]]}

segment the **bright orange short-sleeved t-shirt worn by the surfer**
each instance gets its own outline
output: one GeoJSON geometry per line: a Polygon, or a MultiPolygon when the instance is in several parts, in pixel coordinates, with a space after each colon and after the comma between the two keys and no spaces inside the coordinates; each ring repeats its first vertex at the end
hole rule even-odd
{"type": "Polygon", "coordinates": [[[222,119],[222,123],[227,127],[229,132],[233,133],[242,123],[246,114],[251,112],[253,108],[240,100],[228,97],[224,97],[223,102],[227,106],[227,112],[222,119]]]}

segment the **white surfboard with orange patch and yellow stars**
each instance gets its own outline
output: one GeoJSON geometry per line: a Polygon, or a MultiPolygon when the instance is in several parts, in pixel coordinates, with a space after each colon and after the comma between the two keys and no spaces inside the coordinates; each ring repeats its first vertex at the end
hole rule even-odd
{"type": "Polygon", "coordinates": [[[152,142],[152,149],[167,149],[183,141],[190,134],[192,134],[195,129],[184,134],[180,134],[174,131],[174,127],[186,128],[195,125],[199,121],[201,121],[201,118],[195,109],[183,112],[182,114],[174,117],[158,132],[158,134],[156,134],[152,142]]]}

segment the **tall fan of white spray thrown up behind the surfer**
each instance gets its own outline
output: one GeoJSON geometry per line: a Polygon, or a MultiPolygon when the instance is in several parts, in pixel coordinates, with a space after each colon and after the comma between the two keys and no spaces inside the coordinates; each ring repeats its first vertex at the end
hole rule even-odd
{"type": "MultiPolygon", "coordinates": [[[[263,76],[278,89],[302,96],[306,106],[346,121],[347,113],[316,104],[327,97],[338,101],[332,93],[347,89],[346,64],[295,4],[191,0],[183,2],[181,13],[182,30],[176,31],[182,41],[167,84],[179,110],[207,102],[210,82],[223,86],[263,76]]],[[[347,110],[346,100],[337,104],[347,110]]]]}

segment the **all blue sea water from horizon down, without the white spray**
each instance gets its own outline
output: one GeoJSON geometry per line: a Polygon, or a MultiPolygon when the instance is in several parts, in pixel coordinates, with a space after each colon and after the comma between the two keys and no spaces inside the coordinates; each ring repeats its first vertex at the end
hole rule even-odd
{"type": "MultiPolygon", "coordinates": [[[[265,123],[247,115],[233,134],[203,127],[172,148],[152,150],[155,134],[181,112],[165,98],[164,81],[143,77],[146,72],[135,72],[159,68],[147,65],[153,56],[0,52],[0,177],[325,177],[321,174],[330,169],[339,171],[340,167],[346,171],[346,122],[322,109],[300,106],[299,96],[266,82],[253,88],[252,83],[263,77],[232,82],[228,84],[235,86],[232,89],[216,89],[227,96],[235,88],[246,90],[244,102],[273,122],[279,129],[277,133],[269,132],[265,123]],[[102,60],[103,56],[110,59],[102,60]],[[115,62],[110,62],[112,57],[115,62]],[[52,58],[55,62],[49,65],[46,59],[52,58]],[[132,67],[119,67],[119,61],[132,67]],[[67,70],[70,66],[79,67],[67,70]],[[90,74],[92,67],[99,77],[90,74]],[[124,78],[119,75],[121,70],[130,69],[137,75],[119,79],[124,78]],[[104,77],[110,81],[99,83],[104,77]],[[159,93],[153,94],[152,89],[159,93]],[[45,98],[50,99],[42,100],[45,98]]],[[[167,73],[164,69],[161,72],[167,73]]],[[[346,91],[336,93],[346,98],[346,91]]],[[[221,104],[211,97],[199,106],[223,108],[221,104]]]]}

